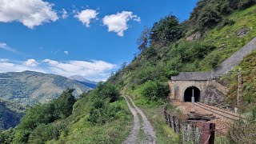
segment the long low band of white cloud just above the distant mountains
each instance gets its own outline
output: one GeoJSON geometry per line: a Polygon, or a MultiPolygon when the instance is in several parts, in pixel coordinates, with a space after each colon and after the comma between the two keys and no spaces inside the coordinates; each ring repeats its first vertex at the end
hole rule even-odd
{"type": "Polygon", "coordinates": [[[28,59],[26,61],[10,61],[0,59],[0,73],[3,72],[21,72],[25,70],[38,71],[46,74],[58,74],[64,77],[72,75],[81,75],[84,78],[101,81],[106,80],[110,72],[116,68],[116,65],[100,60],[86,61],[66,61],[58,62],[51,59],[36,61],[28,59]]]}

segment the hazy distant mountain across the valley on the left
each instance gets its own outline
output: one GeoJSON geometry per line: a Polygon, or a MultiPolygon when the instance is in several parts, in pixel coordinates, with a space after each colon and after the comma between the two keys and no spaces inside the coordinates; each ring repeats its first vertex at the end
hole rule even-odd
{"type": "Polygon", "coordinates": [[[0,98],[22,105],[49,102],[58,98],[59,94],[67,88],[75,89],[76,97],[91,90],[79,82],[55,74],[33,71],[0,74],[0,98]]]}

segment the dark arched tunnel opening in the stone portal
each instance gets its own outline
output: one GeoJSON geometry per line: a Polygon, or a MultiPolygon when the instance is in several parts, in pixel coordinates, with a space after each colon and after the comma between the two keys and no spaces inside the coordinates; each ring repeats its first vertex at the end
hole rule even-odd
{"type": "Polygon", "coordinates": [[[195,86],[186,88],[184,93],[184,102],[192,102],[192,95],[194,90],[194,102],[200,102],[200,90],[195,86]]]}

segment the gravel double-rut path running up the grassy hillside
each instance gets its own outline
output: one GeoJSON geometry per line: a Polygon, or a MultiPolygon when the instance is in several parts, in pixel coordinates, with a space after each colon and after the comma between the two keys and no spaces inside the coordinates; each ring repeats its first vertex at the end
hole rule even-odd
{"type": "MultiPolygon", "coordinates": [[[[142,116],[142,126],[143,126],[143,130],[144,130],[144,133],[145,133],[145,135],[146,135],[146,137],[142,140],[142,142],[141,143],[143,143],[143,144],[155,144],[156,143],[156,137],[155,137],[155,133],[154,133],[154,129],[153,129],[153,126],[151,126],[151,124],[150,124],[150,122],[148,121],[148,119],[146,118],[146,115],[142,112],[142,110],[140,110],[135,104],[134,104],[134,102],[133,102],[133,100],[129,97],[129,96],[126,96],[125,97],[126,98],[126,102],[127,102],[127,104],[128,104],[128,106],[129,106],[129,108],[130,108],[130,104],[129,104],[129,102],[127,101],[127,98],[129,98],[129,100],[130,100],[130,102],[133,104],[133,106],[134,106],[134,108],[135,108],[135,110],[138,112],[138,114],[140,114],[141,116],[142,116]]],[[[133,108],[131,108],[130,109],[130,111],[134,114],[134,109],[133,108]]],[[[136,127],[135,127],[135,118],[138,118],[138,116],[137,116],[137,112],[135,112],[136,114],[136,117],[135,117],[135,115],[134,115],[134,129],[136,129],[135,131],[135,133],[136,134],[138,134],[138,127],[137,127],[137,125],[136,125],[136,127]]],[[[137,120],[136,120],[137,121],[137,120]]],[[[139,122],[138,122],[139,123],[139,122]]],[[[137,123],[136,123],[137,124],[137,123]]],[[[132,133],[130,134],[130,136],[126,139],[126,141],[127,140],[129,140],[129,138],[132,138],[132,136],[131,135],[134,135],[134,129],[132,130],[132,133]]],[[[135,137],[135,139],[132,139],[133,141],[132,142],[130,142],[130,143],[135,143],[136,142],[136,137],[135,137]]],[[[126,142],[125,141],[125,142],[126,142]]],[[[130,139],[130,141],[131,141],[131,139],[130,139]]]]}

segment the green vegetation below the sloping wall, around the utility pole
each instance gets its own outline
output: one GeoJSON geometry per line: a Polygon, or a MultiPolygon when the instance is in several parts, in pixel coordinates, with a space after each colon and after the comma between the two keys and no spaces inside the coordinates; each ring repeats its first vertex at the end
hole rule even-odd
{"type": "MultiPolygon", "coordinates": [[[[252,52],[239,63],[239,65],[230,74],[222,77],[222,81],[227,83],[230,94],[226,98],[226,102],[231,106],[237,105],[238,94],[238,68],[242,69],[242,90],[240,92],[240,112],[245,113],[254,110],[256,102],[256,51],[252,52]]],[[[255,109],[256,110],[256,109],[255,109]]],[[[254,113],[253,113],[254,114],[254,113]]]]}

